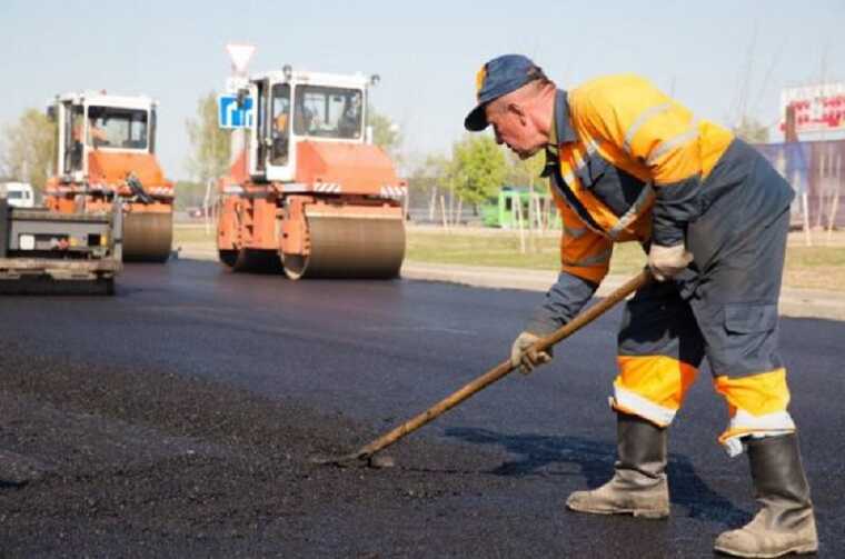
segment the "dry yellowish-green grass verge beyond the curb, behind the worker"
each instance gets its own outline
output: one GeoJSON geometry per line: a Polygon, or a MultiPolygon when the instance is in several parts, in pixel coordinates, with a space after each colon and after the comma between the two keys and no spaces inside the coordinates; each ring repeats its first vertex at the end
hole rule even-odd
{"type": "MultiPolygon", "coordinates": [[[[837,234],[831,244],[807,247],[801,233],[792,233],[786,251],[784,285],[795,288],[845,291],[845,237],[837,234]]],[[[215,228],[177,226],[173,243],[215,247],[215,228]]],[[[406,258],[415,262],[499,268],[556,270],[560,268],[559,237],[556,232],[525,238],[519,250],[519,234],[503,230],[456,230],[412,227],[407,230],[406,258]]],[[[617,244],[610,273],[632,274],[645,264],[645,254],[635,242],[617,244]]]]}

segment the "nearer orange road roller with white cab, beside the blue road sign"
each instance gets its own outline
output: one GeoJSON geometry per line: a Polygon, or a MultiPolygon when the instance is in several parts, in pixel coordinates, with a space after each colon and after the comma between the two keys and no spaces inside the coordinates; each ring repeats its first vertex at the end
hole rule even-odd
{"type": "Polygon", "coordinates": [[[223,266],[294,280],[399,274],[407,184],[366,126],[376,81],[286,66],[220,97],[221,126],[237,111],[243,123],[219,183],[223,266]]]}

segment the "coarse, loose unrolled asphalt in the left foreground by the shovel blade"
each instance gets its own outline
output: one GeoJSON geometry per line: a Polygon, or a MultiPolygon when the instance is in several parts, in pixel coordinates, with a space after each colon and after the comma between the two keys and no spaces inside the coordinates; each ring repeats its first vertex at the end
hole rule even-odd
{"type": "Polygon", "coordinates": [[[389,533],[319,527],[342,507],[389,526],[409,502],[506,482],[429,470],[498,462],[425,438],[391,452],[414,470],[316,466],[379,433],[228,386],[27,353],[0,342],[2,558],[405,556],[389,533]]]}

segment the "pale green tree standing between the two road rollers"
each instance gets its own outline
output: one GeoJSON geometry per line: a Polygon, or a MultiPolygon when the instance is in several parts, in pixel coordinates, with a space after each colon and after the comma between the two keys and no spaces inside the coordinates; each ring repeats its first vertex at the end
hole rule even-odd
{"type": "Polygon", "coordinates": [[[197,101],[197,116],[185,122],[191,154],[188,170],[200,183],[222,177],[229,169],[231,134],[217,126],[217,93],[209,91],[197,101]]]}

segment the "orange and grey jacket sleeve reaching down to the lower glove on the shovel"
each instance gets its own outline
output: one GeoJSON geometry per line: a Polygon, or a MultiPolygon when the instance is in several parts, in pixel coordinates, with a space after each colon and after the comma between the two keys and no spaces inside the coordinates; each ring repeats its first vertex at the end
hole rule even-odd
{"type": "Polygon", "coordinates": [[[566,325],[589,301],[610,262],[613,242],[587,229],[575,211],[553,191],[563,218],[561,271],[531,315],[526,330],[540,336],[566,325]]]}

